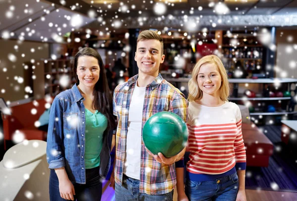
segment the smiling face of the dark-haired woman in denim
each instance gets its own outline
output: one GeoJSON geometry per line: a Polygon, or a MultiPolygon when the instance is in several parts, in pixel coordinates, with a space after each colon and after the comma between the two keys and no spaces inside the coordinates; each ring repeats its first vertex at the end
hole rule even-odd
{"type": "Polygon", "coordinates": [[[78,57],[76,74],[81,86],[94,88],[100,74],[98,59],[93,56],[78,57]]]}

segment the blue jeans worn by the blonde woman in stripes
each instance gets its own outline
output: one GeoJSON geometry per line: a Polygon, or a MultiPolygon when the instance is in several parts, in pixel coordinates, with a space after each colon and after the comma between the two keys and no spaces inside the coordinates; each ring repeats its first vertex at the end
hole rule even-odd
{"type": "Polygon", "coordinates": [[[234,173],[206,182],[187,179],[185,192],[189,201],[235,201],[238,187],[238,176],[234,173]]]}

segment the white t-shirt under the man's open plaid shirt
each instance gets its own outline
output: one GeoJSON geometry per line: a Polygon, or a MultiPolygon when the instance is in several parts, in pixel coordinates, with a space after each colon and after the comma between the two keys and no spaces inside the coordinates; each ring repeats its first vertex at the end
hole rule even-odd
{"type": "Polygon", "coordinates": [[[140,179],[141,161],[141,130],[146,87],[138,87],[137,83],[132,94],[126,143],[126,157],[123,173],[133,179],[140,179]]]}

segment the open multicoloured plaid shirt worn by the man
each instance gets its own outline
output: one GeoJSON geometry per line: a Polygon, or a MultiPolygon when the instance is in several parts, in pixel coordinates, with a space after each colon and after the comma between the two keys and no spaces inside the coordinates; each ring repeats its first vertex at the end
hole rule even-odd
{"type": "MultiPolygon", "coordinates": [[[[118,85],[114,90],[113,114],[118,117],[116,130],[115,182],[122,185],[124,160],[126,156],[126,140],[128,130],[128,113],[132,94],[138,75],[128,82],[118,85]]],[[[170,111],[187,119],[188,101],[173,85],[159,74],[147,87],[144,101],[142,129],[148,118],[161,111],[170,111]]],[[[140,193],[161,195],[171,192],[176,185],[175,167],[183,167],[183,160],[166,165],[157,162],[145,149],[141,142],[140,193]]]]}

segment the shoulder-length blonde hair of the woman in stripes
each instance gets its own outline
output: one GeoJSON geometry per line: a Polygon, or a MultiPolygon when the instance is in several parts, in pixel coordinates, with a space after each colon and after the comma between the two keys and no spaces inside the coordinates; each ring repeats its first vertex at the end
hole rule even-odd
{"type": "Polygon", "coordinates": [[[200,100],[202,98],[202,90],[198,86],[198,72],[200,70],[200,67],[205,63],[211,63],[215,66],[217,66],[217,69],[221,75],[222,83],[221,87],[219,89],[219,95],[220,99],[223,101],[228,101],[230,88],[229,88],[229,82],[228,82],[228,76],[226,69],[219,57],[216,55],[207,55],[200,58],[200,60],[195,64],[193,72],[192,72],[192,78],[190,79],[188,83],[189,87],[189,101],[195,101],[200,100]]]}

